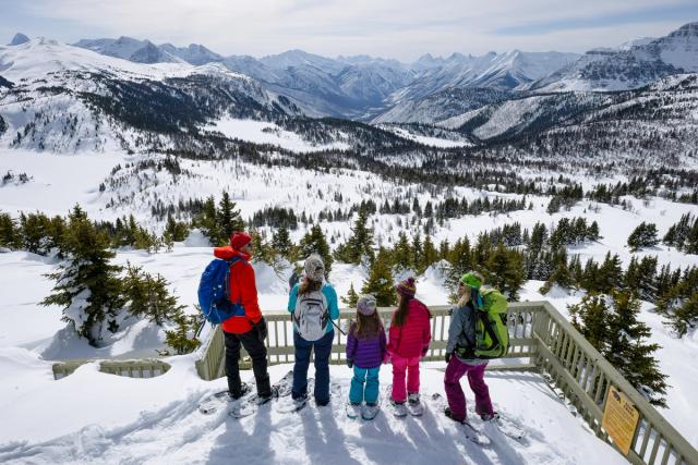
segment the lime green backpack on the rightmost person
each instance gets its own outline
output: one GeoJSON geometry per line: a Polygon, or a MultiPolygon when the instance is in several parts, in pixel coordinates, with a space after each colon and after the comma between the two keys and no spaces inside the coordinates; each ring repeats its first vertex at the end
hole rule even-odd
{"type": "Polygon", "coordinates": [[[476,311],[476,358],[501,358],[509,352],[506,297],[495,289],[480,291],[476,311]]]}

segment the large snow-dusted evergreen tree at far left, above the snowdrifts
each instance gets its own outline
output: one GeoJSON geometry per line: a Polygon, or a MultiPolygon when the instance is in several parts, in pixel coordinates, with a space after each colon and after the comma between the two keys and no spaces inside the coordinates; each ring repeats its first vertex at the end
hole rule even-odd
{"type": "Polygon", "coordinates": [[[99,346],[107,328],[118,328],[117,316],[123,307],[118,277],[121,268],[111,265],[115,253],[108,247],[106,234],[97,231],[76,206],[65,232],[67,262],[58,272],[48,274],[56,280],[56,286],[41,302],[62,307],[63,320],[93,346],[99,346]]]}

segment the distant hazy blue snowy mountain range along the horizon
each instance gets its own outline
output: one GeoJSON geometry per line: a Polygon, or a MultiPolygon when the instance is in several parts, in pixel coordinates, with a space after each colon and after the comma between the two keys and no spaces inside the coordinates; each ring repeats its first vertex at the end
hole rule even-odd
{"type": "Polygon", "coordinates": [[[642,37],[585,54],[513,50],[474,57],[424,54],[412,63],[366,56],[326,58],[289,50],[260,59],[224,57],[201,45],[156,46],[129,37],[80,40],[77,47],[140,63],[219,62],[285,96],[310,117],[375,123],[432,123],[483,103],[530,93],[627,90],[698,71],[698,23],[665,37],[642,37]]]}

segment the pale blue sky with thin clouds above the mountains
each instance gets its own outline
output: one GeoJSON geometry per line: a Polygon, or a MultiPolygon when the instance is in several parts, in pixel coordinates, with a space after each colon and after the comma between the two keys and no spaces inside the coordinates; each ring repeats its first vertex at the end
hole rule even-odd
{"type": "Polygon", "coordinates": [[[67,42],[127,35],[222,54],[300,48],[410,61],[426,52],[582,52],[694,21],[696,0],[0,0],[0,42],[15,32],[67,42]]]}

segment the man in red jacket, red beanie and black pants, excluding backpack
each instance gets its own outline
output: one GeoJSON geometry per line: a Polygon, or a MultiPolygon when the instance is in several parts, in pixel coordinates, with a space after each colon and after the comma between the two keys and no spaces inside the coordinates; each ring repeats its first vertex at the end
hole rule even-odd
{"type": "Polygon", "coordinates": [[[244,316],[233,316],[220,325],[226,336],[226,375],[230,396],[240,399],[250,389],[240,381],[238,359],[242,344],[252,358],[252,370],[257,384],[257,403],[265,403],[273,396],[264,344],[267,329],[257,303],[254,269],[250,265],[251,241],[250,234],[236,232],[230,236],[230,245],[214,248],[214,255],[225,260],[239,258],[230,268],[230,302],[242,304],[244,316]]]}

